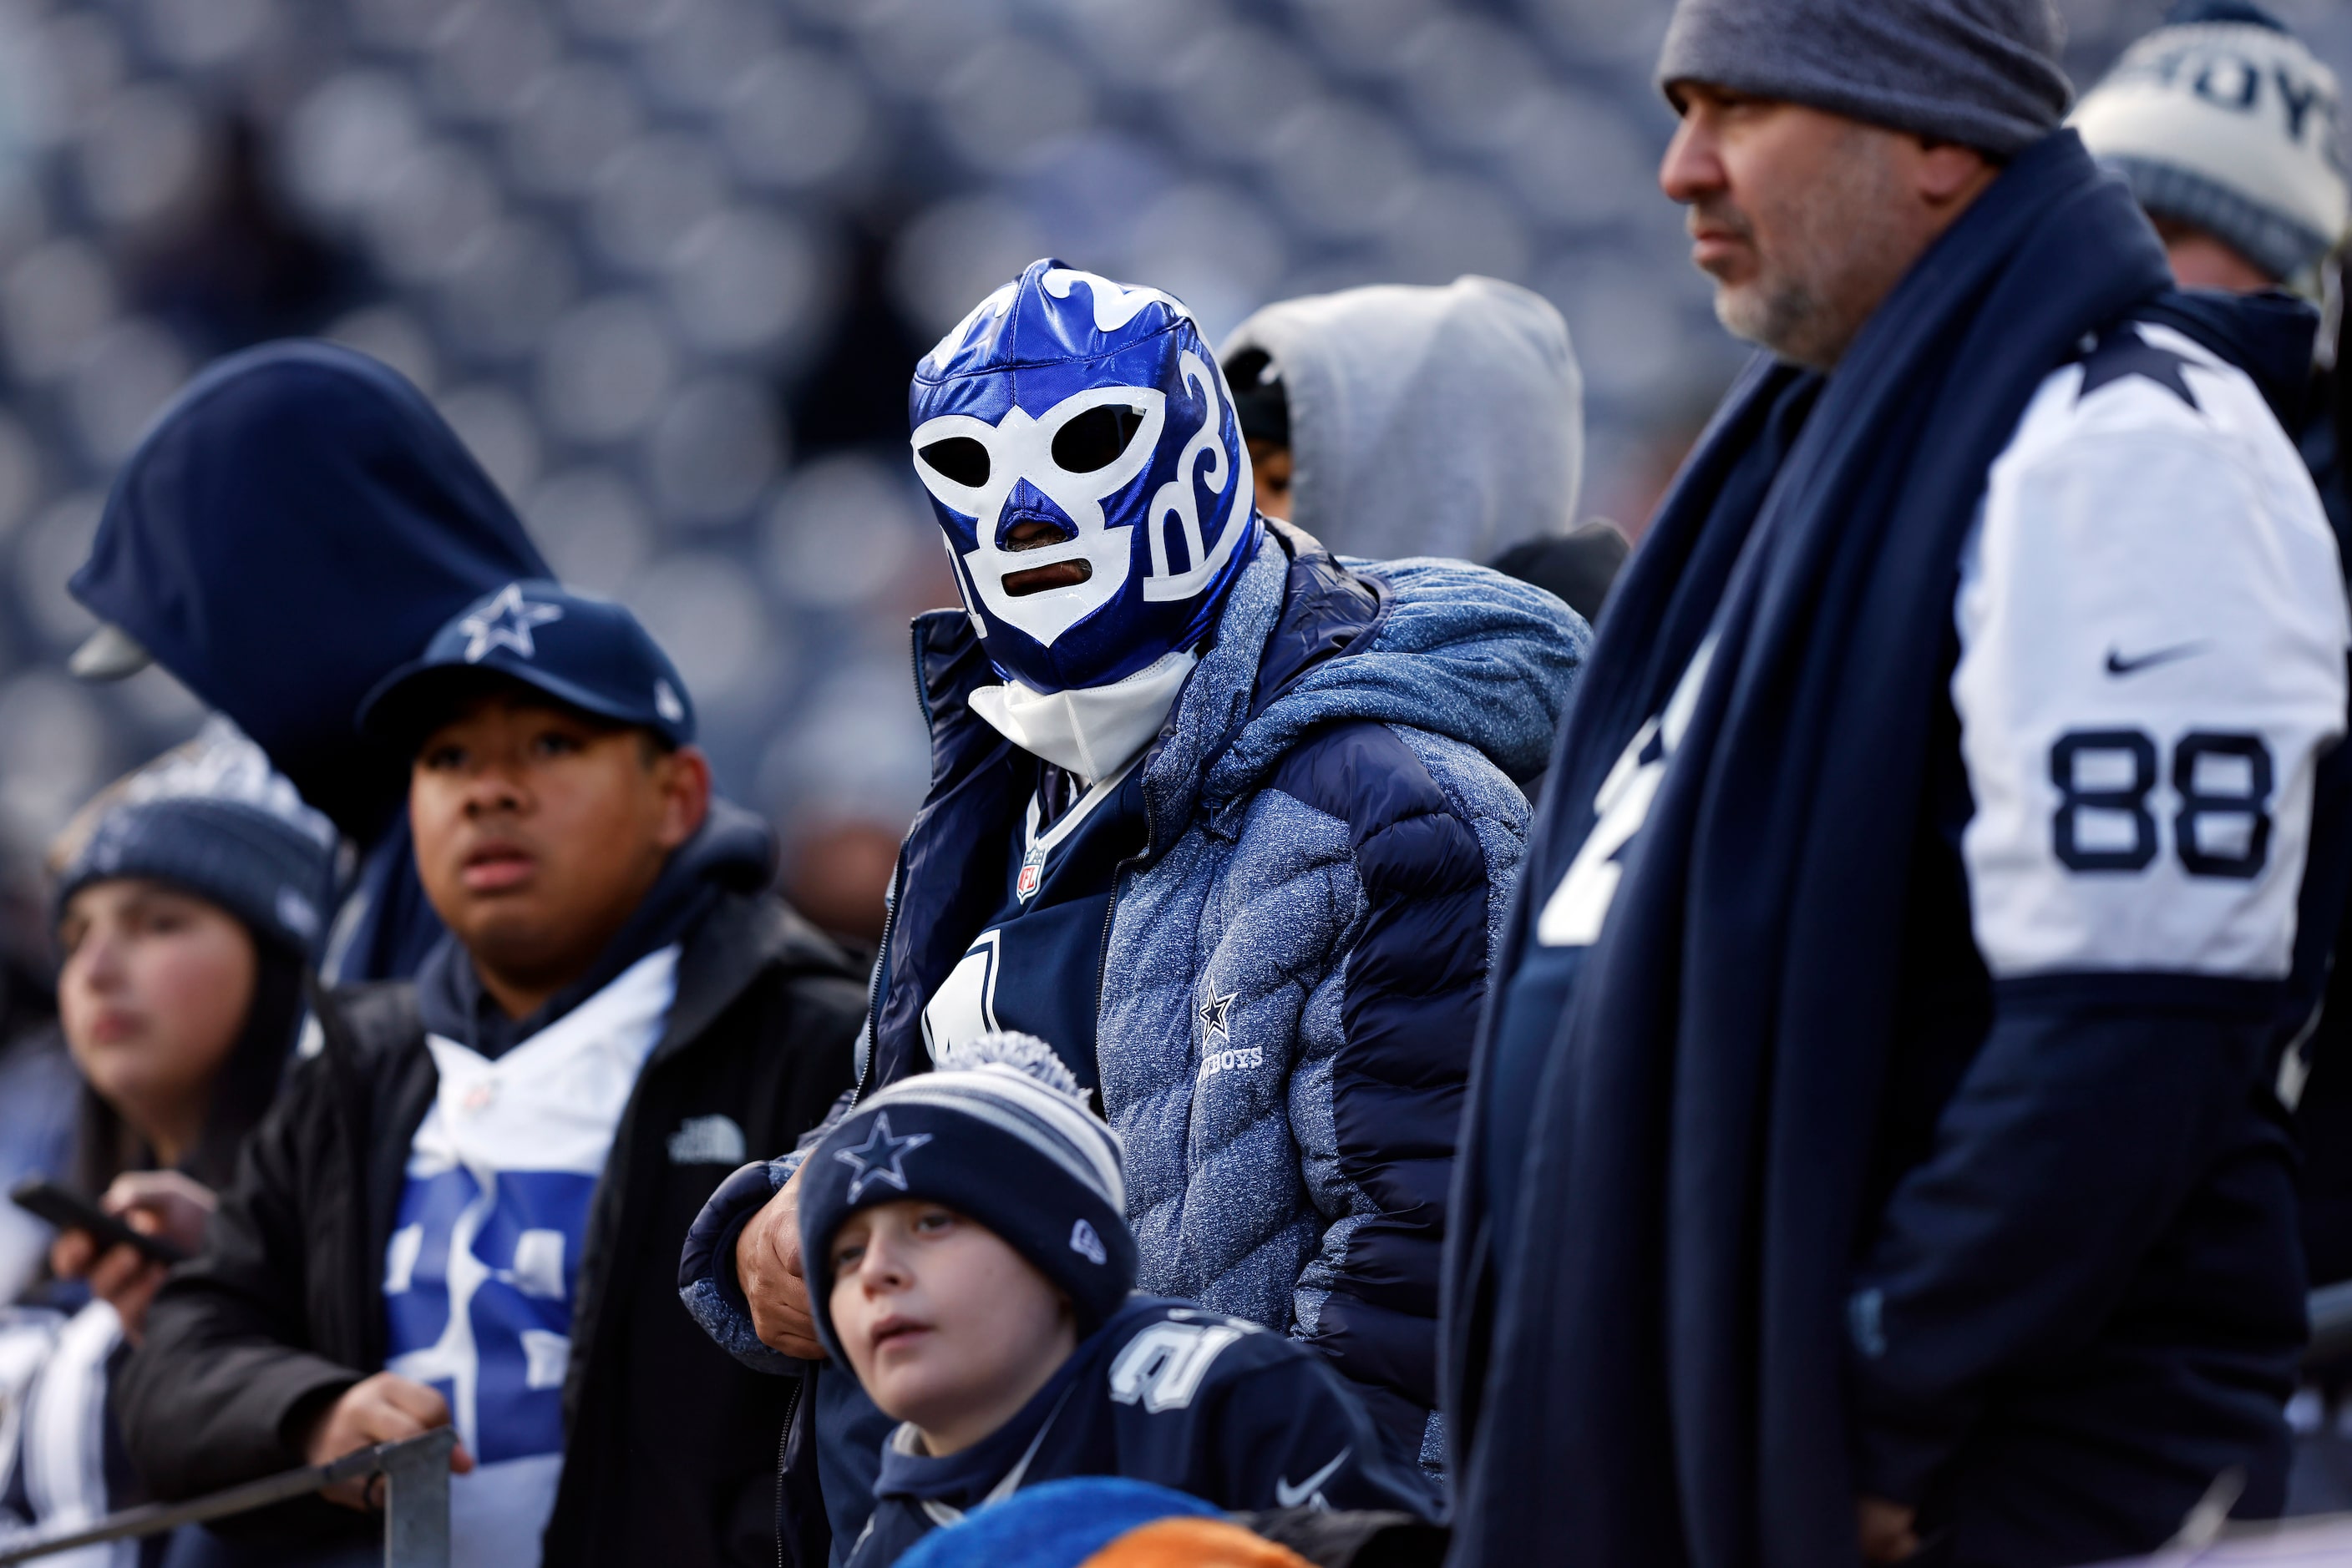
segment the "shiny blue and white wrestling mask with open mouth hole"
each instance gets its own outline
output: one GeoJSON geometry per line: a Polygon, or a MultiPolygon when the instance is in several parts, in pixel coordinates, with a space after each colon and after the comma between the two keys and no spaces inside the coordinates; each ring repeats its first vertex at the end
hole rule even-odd
{"type": "Polygon", "coordinates": [[[1181,301],[1033,261],[915,367],[908,404],[1000,675],[1108,686],[1209,635],[1256,550],[1256,487],[1181,301]]]}

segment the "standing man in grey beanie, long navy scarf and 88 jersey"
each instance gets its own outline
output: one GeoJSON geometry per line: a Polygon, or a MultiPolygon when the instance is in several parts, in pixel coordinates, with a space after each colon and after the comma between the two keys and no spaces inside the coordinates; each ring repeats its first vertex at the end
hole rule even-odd
{"type": "Polygon", "coordinates": [[[2279,397],[2051,0],[1682,0],[1745,371],[1611,599],[1456,1166],[1456,1563],[2056,1568],[2274,1514],[2345,898],[2279,397]],[[1562,1523],[1566,1521],[1566,1523],[1562,1523]]]}

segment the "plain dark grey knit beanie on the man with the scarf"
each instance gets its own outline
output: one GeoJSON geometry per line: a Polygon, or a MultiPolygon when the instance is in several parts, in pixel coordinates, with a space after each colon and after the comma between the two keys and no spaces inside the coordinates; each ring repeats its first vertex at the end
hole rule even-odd
{"type": "Polygon", "coordinates": [[[1825,108],[1994,158],[2058,129],[2053,0],[1679,0],[1658,85],[1825,108]]]}

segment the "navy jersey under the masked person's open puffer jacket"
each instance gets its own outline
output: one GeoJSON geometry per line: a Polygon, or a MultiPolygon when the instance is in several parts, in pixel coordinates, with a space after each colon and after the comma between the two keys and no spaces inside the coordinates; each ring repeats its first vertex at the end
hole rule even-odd
{"type": "Polygon", "coordinates": [[[1014,830],[1004,903],[922,1009],[934,1058],[950,1044],[1021,1030],[1051,1044],[1082,1088],[1098,1086],[1094,1018],[1110,896],[1120,863],[1145,839],[1138,759],[1051,816],[1051,785],[1068,773],[1042,769],[1047,783],[1014,830]]]}

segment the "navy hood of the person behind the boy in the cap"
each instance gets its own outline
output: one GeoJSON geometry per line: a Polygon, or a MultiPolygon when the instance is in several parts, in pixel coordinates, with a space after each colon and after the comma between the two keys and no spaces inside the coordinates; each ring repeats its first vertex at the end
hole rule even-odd
{"type": "Polygon", "coordinates": [[[473,599],[553,576],[423,393],[334,343],[266,343],[188,383],[122,465],[73,597],[252,736],[369,851],[343,980],[440,933],[407,851],[407,757],[360,698],[473,599]]]}

